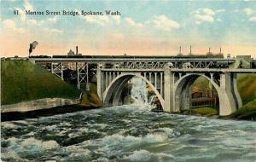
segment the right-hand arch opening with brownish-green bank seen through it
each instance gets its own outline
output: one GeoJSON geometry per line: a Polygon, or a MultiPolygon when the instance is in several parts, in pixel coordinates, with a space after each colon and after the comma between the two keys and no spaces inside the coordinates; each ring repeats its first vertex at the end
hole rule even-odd
{"type": "Polygon", "coordinates": [[[177,81],[177,90],[175,91],[177,109],[184,113],[219,114],[217,86],[203,74],[183,76],[177,81]]]}

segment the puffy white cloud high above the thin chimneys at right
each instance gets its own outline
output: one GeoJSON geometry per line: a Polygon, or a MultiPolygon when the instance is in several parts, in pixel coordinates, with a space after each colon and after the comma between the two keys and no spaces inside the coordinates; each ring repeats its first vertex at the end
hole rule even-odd
{"type": "Polygon", "coordinates": [[[202,22],[213,22],[214,15],[216,13],[212,9],[197,9],[192,12],[196,24],[201,24],[202,22]]]}

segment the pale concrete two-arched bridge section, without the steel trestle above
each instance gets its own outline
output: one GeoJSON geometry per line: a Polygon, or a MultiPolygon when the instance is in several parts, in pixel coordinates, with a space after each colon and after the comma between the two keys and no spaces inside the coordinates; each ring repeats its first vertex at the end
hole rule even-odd
{"type": "Polygon", "coordinates": [[[242,106],[234,71],[209,69],[97,69],[97,93],[105,104],[122,105],[121,91],[133,77],[142,78],[160,100],[165,112],[191,108],[191,86],[199,77],[207,78],[218,93],[219,114],[229,115],[242,106]]]}

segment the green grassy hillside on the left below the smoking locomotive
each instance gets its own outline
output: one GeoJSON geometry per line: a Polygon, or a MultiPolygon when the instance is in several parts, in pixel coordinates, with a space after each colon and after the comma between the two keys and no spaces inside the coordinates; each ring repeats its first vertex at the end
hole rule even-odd
{"type": "Polygon", "coordinates": [[[77,98],[79,90],[30,61],[1,61],[1,104],[41,98],[77,98]]]}

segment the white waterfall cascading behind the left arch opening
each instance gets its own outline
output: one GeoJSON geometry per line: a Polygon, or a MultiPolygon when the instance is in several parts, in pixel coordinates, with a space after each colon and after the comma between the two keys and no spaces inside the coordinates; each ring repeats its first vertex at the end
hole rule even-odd
{"type": "Polygon", "coordinates": [[[143,81],[142,78],[131,78],[131,100],[132,104],[137,105],[142,108],[153,109],[156,106],[154,105],[155,95],[149,96],[148,99],[148,90],[147,84],[143,81]]]}

